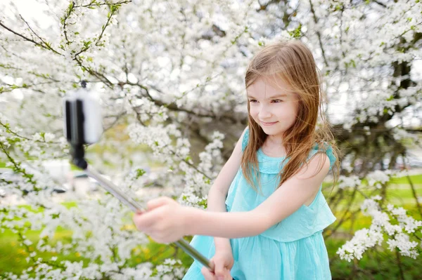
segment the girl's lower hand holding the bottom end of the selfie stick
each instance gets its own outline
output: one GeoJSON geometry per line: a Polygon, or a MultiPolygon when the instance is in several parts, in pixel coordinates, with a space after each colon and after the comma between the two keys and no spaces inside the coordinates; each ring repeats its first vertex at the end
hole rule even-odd
{"type": "Polygon", "coordinates": [[[215,255],[211,258],[210,262],[214,264],[214,272],[209,269],[201,270],[206,280],[208,279],[230,279],[230,269],[234,265],[233,253],[231,247],[216,249],[215,255]],[[214,277],[214,278],[213,278],[214,277]]]}

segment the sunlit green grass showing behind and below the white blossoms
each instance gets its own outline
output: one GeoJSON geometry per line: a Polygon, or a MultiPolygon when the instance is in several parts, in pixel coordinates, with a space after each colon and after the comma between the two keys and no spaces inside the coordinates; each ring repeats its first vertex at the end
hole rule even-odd
{"type": "MultiPolygon", "coordinates": [[[[418,192],[418,194],[422,194],[422,175],[411,176],[411,180],[414,181],[414,184],[417,188],[416,192],[418,192]]],[[[420,219],[421,217],[418,215],[418,211],[416,210],[411,189],[409,186],[404,188],[404,185],[407,185],[407,178],[397,178],[397,180],[395,179],[394,184],[392,184],[388,189],[387,199],[397,204],[398,206],[403,206],[409,211],[410,215],[416,219],[420,219]]],[[[324,189],[324,195],[326,197],[329,196],[328,193],[330,190],[331,188],[329,187],[324,189]]],[[[368,191],[363,190],[363,192],[367,193],[368,191]]],[[[364,196],[362,196],[362,194],[358,194],[357,201],[363,201],[363,199],[364,196]]],[[[343,199],[341,204],[347,204],[347,196],[345,199],[343,199]]],[[[68,208],[77,207],[76,202],[65,203],[63,205],[68,208]]],[[[25,207],[28,210],[34,212],[43,211],[42,208],[32,208],[30,206],[21,207],[25,207]]],[[[338,220],[340,216],[343,215],[343,213],[344,210],[340,210],[335,213],[336,217],[338,217],[338,220]]],[[[336,222],[338,222],[338,220],[336,222]]],[[[362,215],[360,212],[357,213],[356,220],[358,222],[354,223],[353,231],[362,229],[364,227],[369,227],[371,225],[371,218],[362,215]]],[[[336,224],[334,223],[330,228],[333,228],[335,225],[336,224]]],[[[350,232],[351,225],[352,223],[350,220],[344,222],[343,225],[341,225],[338,229],[338,232],[350,232]]],[[[328,230],[330,229],[328,228],[327,231],[328,230]]],[[[39,241],[40,232],[41,231],[28,231],[25,233],[25,236],[27,236],[28,239],[33,242],[33,244],[30,246],[30,251],[34,250],[34,246],[36,246],[37,242],[39,241]]],[[[61,241],[63,244],[70,243],[71,236],[72,231],[58,227],[58,230],[56,231],[53,239],[49,240],[48,243],[50,245],[56,244],[57,241],[61,241]]],[[[340,260],[335,252],[345,243],[345,241],[345,239],[338,239],[334,237],[326,240],[328,255],[332,259],[331,272],[333,279],[348,279],[350,274],[355,274],[354,279],[397,279],[399,277],[399,271],[397,265],[395,265],[397,262],[396,255],[390,251],[383,251],[379,253],[381,254],[381,257],[373,252],[365,253],[364,258],[356,263],[340,260]],[[353,270],[354,265],[357,265],[361,271],[353,270]]],[[[27,263],[25,260],[27,256],[27,251],[23,247],[19,246],[18,236],[16,234],[10,230],[6,230],[4,233],[0,233],[0,278],[1,274],[4,274],[4,272],[20,274],[23,269],[32,266],[31,261],[30,263],[27,263]]],[[[56,256],[58,261],[82,261],[85,265],[87,265],[89,262],[89,260],[83,258],[83,256],[80,255],[80,253],[77,251],[72,251],[72,253],[69,255],[57,255],[56,253],[51,252],[39,253],[37,254],[36,258],[50,260],[53,256],[56,256]]],[[[160,263],[162,263],[162,261],[166,258],[174,257],[181,260],[185,267],[191,265],[192,259],[179,248],[156,244],[155,242],[151,241],[146,246],[139,246],[134,252],[132,252],[132,258],[129,260],[128,265],[135,266],[141,262],[146,261],[153,262],[155,265],[160,265],[160,263]]],[[[418,260],[413,260],[407,257],[400,258],[405,271],[405,279],[422,279],[422,262],[420,261],[420,258],[421,257],[419,257],[418,260]]]]}

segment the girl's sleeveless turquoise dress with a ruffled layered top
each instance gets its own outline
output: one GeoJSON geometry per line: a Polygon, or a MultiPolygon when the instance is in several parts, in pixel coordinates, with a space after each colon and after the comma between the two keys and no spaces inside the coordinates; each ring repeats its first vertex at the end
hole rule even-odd
{"type": "MultiPolygon", "coordinates": [[[[248,145],[249,131],[242,140],[242,151],[248,145]]],[[[309,154],[318,152],[315,146],[309,154]]],[[[330,159],[330,169],[335,162],[331,147],[326,149],[330,159]]],[[[276,189],[283,157],[265,155],[257,151],[260,166],[262,194],[255,192],[243,177],[239,168],[231,182],[226,198],[228,212],[250,211],[262,203],[276,189]]],[[[322,187],[322,185],[321,185],[322,187]]],[[[236,280],[323,280],[331,279],[328,253],[322,231],[335,221],[324,195],[319,187],[314,201],[309,206],[302,205],[298,211],[270,227],[262,234],[238,239],[230,239],[234,257],[231,276],[236,280]]],[[[191,245],[205,257],[215,254],[213,236],[194,236],[191,245]]],[[[184,280],[204,279],[200,269],[203,265],[193,262],[184,280]]]]}

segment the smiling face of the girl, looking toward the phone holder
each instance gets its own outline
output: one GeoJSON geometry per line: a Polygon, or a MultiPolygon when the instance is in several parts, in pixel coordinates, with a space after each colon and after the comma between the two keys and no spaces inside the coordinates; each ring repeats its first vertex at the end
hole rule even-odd
{"type": "Polygon", "coordinates": [[[282,136],[295,122],[298,95],[281,79],[257,79],[247,88],[250,116],[267,135],[282,136]]]}

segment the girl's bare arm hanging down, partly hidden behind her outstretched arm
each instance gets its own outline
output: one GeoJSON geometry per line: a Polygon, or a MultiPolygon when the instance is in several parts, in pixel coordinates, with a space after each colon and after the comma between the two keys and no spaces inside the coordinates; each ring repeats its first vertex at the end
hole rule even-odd
{"type": "MultiPolygon", "coordinates": [[[[234,180],[234,177],[241,166],[242,139],[243,135],[245,135],[245,131],[246,128],[243,131],[241,138],[236,143],[230,158],[219,172],[214,184],[212,184],[210,192],[208,192],[208,211],[226,212],[225,201],[227,192],[229,191],[231,182],[234,180]]],[[[215,248],[227,248],[230,246],[230,241],[226,238],[215,237],[214,242],[215,248]]]]}

